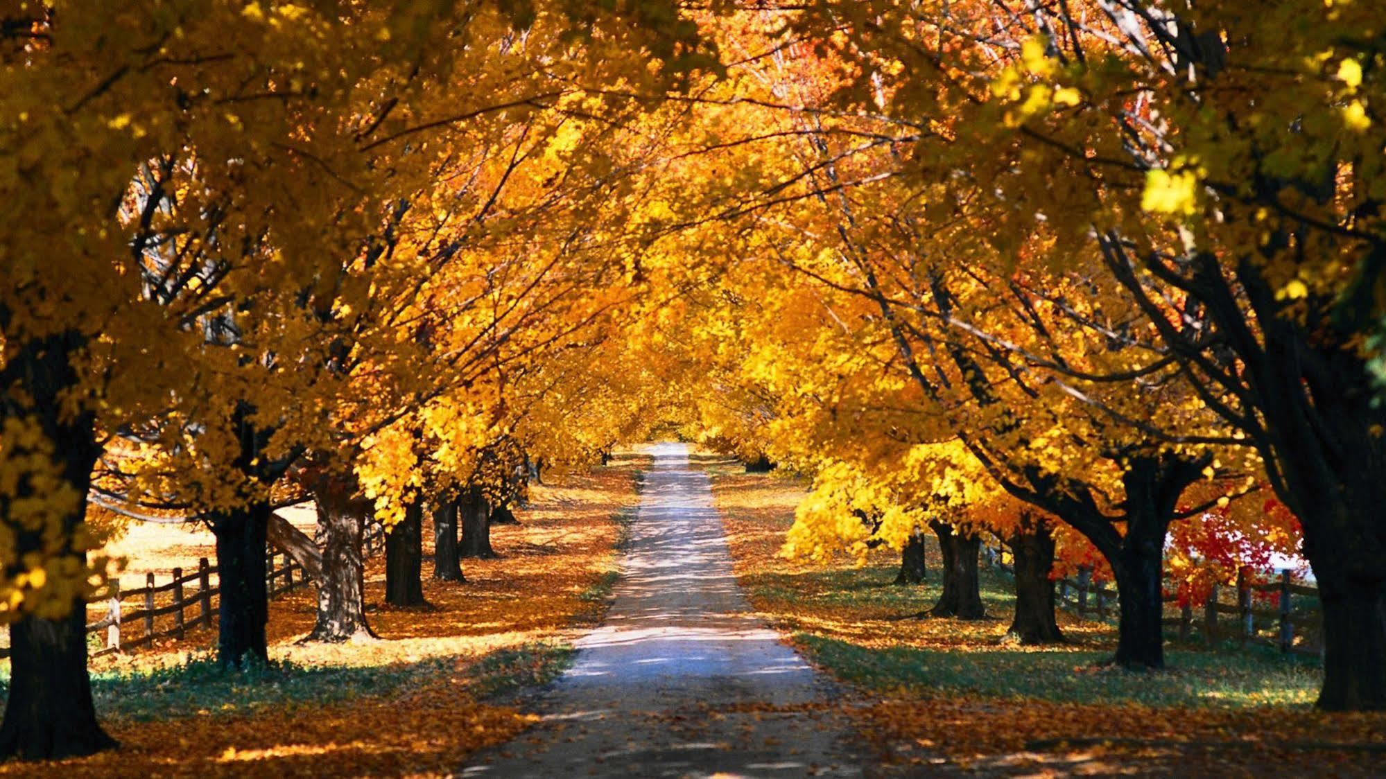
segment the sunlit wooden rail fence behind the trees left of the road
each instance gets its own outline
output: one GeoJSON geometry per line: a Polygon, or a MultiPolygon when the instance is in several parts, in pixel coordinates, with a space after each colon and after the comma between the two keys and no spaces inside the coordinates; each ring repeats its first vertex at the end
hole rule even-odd
{"type": "MultiPolygon", "coordinates": [[[[385,531],[378,523],[362,536],[366,557],[384,545],[385,531]]],[[[270,597],[308,584],[308,572],[287,553],[270,550],[266,570],[265,586],[270,597]]],[[[220,592],[220,582],[212,585],[215,572],[216,566],[209,566],[202,557],[195,571],[184,574],[183,568],[173,568],[172,579],[164,584],[157,584],[154,574],[146,574],[144,586],[139,589],[122,592],[119,581],[112,584],[111,597],[105,600],[105,617],[86,628],[89,635],[105,631],[104,646],[91,656],[137,649],[157,639],[182,639],[191,628],[211,628],[216,621],[213,599],[220,592]],[[134,631],[128,629],[132,625],[140,627],[137,638],[130,635],[134,631]]],[[[10,650],[4,649],[0,657],[8,654],[10,650]]]]}

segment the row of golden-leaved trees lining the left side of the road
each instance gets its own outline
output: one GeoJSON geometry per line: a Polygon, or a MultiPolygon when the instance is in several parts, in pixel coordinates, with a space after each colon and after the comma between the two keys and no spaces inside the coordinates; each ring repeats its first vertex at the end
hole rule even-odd
{"type": "Polygon", "coordinates": [[[640,107],[600,87],[664,93],[714,61],[694,33],[668,3],[0,11],[0,757],[111,746],[83,631],[108,511],[211,527],[237,667],[277,506],[317,503],[310,638],[342,640],[367,517],[409,604],[426,509],[460,577],[455,516],[485,553],[527,455],[621,435],[604,371],[564,367],[640,292],[640,107]]]}

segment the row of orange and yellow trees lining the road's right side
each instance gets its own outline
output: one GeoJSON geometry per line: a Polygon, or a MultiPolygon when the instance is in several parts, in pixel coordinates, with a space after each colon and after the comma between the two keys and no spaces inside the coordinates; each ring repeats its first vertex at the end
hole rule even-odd
{"type": "Polygon", "coordinates": [[[737,65],[690,98],[718,150],[674,169],[750,182],[700,207],[739,229],[687,327],[718,366],[705,427],[815,475],[789,552],[909,549],[942,523],[1044,553],[1053,528],[1060,564],[1116,581],[1116,661],[1161,667],[1167,554],[1299,550],[1319,706],[1386,707],[1376,14],[757,18],[773,44],[721,28],[737,65]]]}

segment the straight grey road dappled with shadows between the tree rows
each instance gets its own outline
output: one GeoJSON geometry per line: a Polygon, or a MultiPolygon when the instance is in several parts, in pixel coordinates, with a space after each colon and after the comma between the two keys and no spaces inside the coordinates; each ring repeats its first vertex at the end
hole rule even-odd
{"type": "Polygon", "coordinates": [[[822,678],[751,614],[708,478],[651,446],[606,622],[538,701],[543,721],[463,776],[861,776],[822,678]]]}

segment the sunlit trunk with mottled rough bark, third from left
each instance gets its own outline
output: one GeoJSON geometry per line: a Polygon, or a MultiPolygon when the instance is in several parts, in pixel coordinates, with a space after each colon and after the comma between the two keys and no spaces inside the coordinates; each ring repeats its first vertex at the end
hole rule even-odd
{"type": "Polygon", "coordinates": [[[327,477],[313,488],[322,575],[317,579],[317,617],[304,640],[340,643],[374,638],[366,622],[366,563],[362,536],[369,506],[352,498],[353,485],[327,477]]]}

